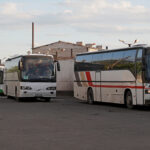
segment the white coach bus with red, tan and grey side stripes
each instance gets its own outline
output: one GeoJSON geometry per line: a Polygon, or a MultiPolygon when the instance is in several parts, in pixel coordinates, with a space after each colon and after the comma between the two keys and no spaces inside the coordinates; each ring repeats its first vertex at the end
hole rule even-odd
{"type": "Polygon", "coordinates": [[[78,54],[75,58],[74,96],[94,101],[150,104],[150,47],[78,54]]]}

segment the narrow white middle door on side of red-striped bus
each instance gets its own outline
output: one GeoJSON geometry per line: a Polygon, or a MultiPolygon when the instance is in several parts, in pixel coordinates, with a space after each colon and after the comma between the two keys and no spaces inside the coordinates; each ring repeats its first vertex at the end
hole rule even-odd
{"type": "Polygon", "coordinates": [[[101,101],[101,71],[95,72],[95,101],[101,101]]]}

